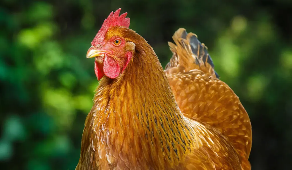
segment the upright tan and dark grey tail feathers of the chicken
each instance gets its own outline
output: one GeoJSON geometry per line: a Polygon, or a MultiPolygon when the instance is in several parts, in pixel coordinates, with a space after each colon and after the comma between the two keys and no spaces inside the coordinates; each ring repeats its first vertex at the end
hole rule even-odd
{"type": "Polygon", "coordinates": [[[166,74],[198,69],[219,78],[207,47],[198,40],[196,34],[187,33],[185,29],[180,28],[172,38],[175,44],[168,42],[173,56],[165,67],[166,74]]]}

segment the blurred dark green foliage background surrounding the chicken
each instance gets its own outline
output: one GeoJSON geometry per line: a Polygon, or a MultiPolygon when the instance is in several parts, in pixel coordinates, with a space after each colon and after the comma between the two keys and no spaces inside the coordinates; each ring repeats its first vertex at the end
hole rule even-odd
{"type": "Polygon", "coordinates": [[[291,168],[292,1],[2,0],[1,169],[75,169],[98,85],[86,52],[120,7],[163,66],[173,33],[196,33],[250,116],[252,168],[291,168]]]}

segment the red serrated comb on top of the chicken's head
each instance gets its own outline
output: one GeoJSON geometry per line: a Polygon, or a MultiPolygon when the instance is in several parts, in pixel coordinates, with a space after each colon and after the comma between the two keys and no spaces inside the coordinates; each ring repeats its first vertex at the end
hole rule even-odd
{"type": "Polygon", "coordinates": [[[111,12],[107,19],[103,22],[100,30],[94,37],[93,41],[91,42],[91,45],[95,46],[98,43],[101,43],[104,38],[105,34],[107,33],[107,30],[111,26],[124,26],[129,27],[130,26],[130,18],[126,18],[127,13],[123,13],[120,15],[121,8],[116,10],[116,12],[111,12]],[[120,16],[119,16],[120,15],[120,16]]]}

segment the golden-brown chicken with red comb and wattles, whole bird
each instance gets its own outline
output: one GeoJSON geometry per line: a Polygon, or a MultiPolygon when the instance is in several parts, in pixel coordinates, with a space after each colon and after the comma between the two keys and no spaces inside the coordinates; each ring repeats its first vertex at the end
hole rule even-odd
{"type": "Polygon", "coordinates": [[[204,44],[179,29],[164,71],[120,10],[87,52],[100,82],[76,169],[250,169],[248,115],[204,44]]]}

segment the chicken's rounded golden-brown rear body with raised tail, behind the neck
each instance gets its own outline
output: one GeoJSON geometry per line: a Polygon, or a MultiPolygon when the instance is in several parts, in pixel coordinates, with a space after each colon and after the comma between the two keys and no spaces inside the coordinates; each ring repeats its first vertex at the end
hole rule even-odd
{"type": "Polygon", "coordinates": [[[168,43],[173,57],[165,73],[182,113],[219,129],[241,156],[242,167],[250,169],[251,123],[239,98],[216,78],[211,57],[197,35],[180,28],[173,40],[176,45],[168,43]]]}

